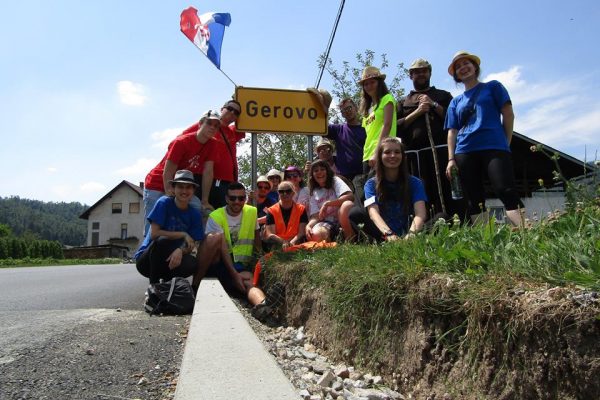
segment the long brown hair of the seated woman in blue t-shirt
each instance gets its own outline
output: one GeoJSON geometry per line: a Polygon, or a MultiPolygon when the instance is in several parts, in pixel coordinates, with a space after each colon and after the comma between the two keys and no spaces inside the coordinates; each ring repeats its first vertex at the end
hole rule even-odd
{"type": "Polygon", "coordinates": [[[396,137],[387,137],[382,140],[379,147],[377,147],[377,158],[375,162],[375,191],[377,192],[377,201],[380,205],[384,205],[386,201],[399,200],[402,201],[402,210],[404,215],[409,215],[409,205],[411,204],[411,193],[410,193],[410,174],[408,173],[408,162],[406,160],[406,148],[400,139],[396,137]],[[402,161],[400,162],[398,171],[398,192],[391,192],[389,187],[384,184],[385,180],[385,167],[381,161],[383,156],[383,148],[386,144],[397,144],[400,146],[400,152],[402,154],[402,161]]]}

